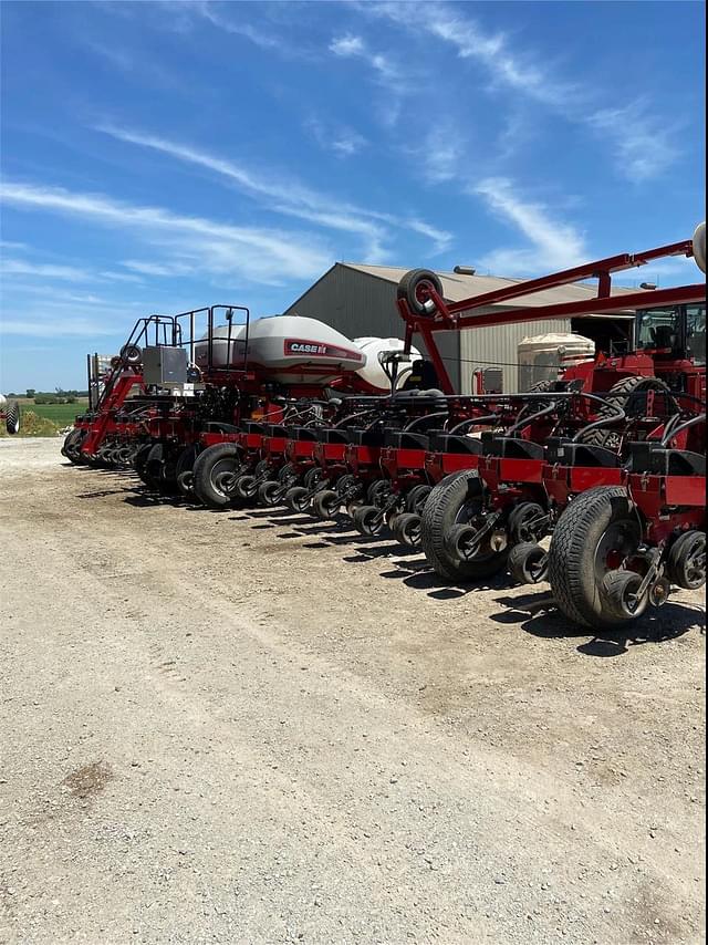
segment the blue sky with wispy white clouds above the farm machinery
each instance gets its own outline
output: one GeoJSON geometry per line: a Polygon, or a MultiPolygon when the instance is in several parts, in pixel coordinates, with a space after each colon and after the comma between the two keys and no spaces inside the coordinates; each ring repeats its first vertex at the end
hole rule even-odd
{"type": "Polygon", "coordinates": [[[4,2],[2,20],[4,391],[83,386],[85,353],[143,314],[280,312],[335,260],[534,274],[704,217],[699,3],[4,2]]]}

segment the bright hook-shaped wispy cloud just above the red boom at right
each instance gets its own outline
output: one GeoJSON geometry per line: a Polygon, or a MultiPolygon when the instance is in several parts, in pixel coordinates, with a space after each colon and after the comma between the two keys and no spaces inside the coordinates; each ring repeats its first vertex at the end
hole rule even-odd
{"type": "Polygon", "coordinates": [[[493,214],[527,239],[527,246],[487,253],[478,260],[480,268],[500,276],[529,276],[577,266],[587,258],[583,235],[554,219],[545,205],[521,197],[511,180],[489,177],[470,193],[481,197],[493,214]]]}

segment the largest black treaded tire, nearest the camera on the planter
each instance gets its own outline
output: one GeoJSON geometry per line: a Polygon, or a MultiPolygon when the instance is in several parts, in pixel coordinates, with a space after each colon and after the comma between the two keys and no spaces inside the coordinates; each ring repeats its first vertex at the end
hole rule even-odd
{"type": "Polygon", "coordinates": [[[603,581],[632,557],[641,534],[636,510],[621,486],[600,486],[573,499],[555,526],[549,551],[549,581],[565,616],[593,629],[616,625],[603,581]],[[613,533],[617,549],[615,560],[608,561],[613,533]]]}

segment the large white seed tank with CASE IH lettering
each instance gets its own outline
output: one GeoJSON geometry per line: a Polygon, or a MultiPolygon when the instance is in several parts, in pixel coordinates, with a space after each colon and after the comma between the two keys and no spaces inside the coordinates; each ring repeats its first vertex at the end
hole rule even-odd
{"type": "MultiPolygon", "coordinates": [[[[240,367],[246,352],[246,329],[235,326],[230,351],[228,326],[214,331],[214,366],[228,363],[240,367]],[[218,347],[217,347],[218,345],[218,347]]],[[[208,344],[195,345],[195,361],[206,367],[208,344]]],[[[366,365],[366,355],[347,338],[316,319],[277,315],[257,319],[248,330],[248,365],[260,368],[269,381],[281,384],[326,384],[342,374],[353,374],[366,365]]]]}

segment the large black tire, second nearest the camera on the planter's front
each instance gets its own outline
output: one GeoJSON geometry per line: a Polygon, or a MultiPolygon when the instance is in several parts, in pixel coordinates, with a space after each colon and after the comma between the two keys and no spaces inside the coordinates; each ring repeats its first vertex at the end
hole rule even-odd
{"type": "Polygon", "coordinates": [[[491,552],[485,558],[460,561],[448,548],[446,538],[462,512],[470,490],[481,492],[476,469],[464,469],[446,476],[433,489],[423,509],[420,543],[436,574],[447,581],[473,581],[498,573],[506,563],[507,551],[491,552]]]}

